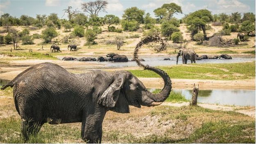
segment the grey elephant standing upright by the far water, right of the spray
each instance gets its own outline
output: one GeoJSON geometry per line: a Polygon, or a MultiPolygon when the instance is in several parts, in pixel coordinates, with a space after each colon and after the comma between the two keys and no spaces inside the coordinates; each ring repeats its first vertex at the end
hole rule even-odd
{"type": "Polygon", "coordinates": [[[187,60],[191,61],[191,64],[196,63],[196,52],[193,49],[181,48],[178,50],[178,55],[176,56],[176,64],[178,64],[178,57],[182,56],[182,63],[187,64],[187,60]]]}

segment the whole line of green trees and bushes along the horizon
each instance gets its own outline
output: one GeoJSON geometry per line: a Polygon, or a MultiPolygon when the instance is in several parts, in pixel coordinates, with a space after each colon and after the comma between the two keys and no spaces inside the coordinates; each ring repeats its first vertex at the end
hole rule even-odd
{"type": "MultiPolygon", "coordinates": [[[[0,18],[0,25],[5,27],[12,25],[46,26],[46,29],[43,30],[40,36],[46,43],[49,43],[51,39],[57,37],[58,33],[55,30],[56,28],[60,29],[64,27],[65,32],[70,32],[71,28],[74,28],[71,36],[64,37],[64,41],[68,42],[68,39],[78,36],[86,37],[88,44],[96,44],[94,40],[97,34],[102,32],[100,26],[103,25],[107,25],[109,32],[136,31],[139,28],[146,30],[144,31],[145,36],[159,32],[163,37],[175,43],[183,41],[182,33],[178,29],[181,23],[187,25],[187,29],[191,33],[191,39],[194,41],[208,39],[206,30],[210,29],[210,23],[214,26],[223,25],[223,30],[219,32],[221,35],[229,35],[230,32],[243,32],[246,35],[255,35],[255,14],[250,12],[244,13],[243,15],[238,12],[230,15],[224,13],[212,15],[207,9],[201,9],[185,15],[182,19],[177,19],[174,18],[173,15],[181,14],[182,9],[175,3],[169,3],[153,11],[156,18],[152,18],[149,13],[145,13],[144,10],[138,9],[137,7],[130,7],[124,10],[121,20],[119,17],[109,14],[104,17],[99,17],[98,13],[106,11],[107,5],[107,1],[104,0],[84,2],[81,4],[84,13],[81,13],[77,9],[72,9],[72,7],[69,6],[63,10],[64,14],[68,15],[68,20],[58,18],[55,13],[49,16],[37,14],[36,18],[25,15],[16,18],[9,14],[3,14],[0,18]],[[121,29],[115,27],[114,24],[120,24],[121,29]],[[141,24],[143,24],[143,27],[140,27],[141,24]],[[160,27],[155,24],[160,24],[160,27]],[[89,26],[91,27],[90,29],[88,28],[89,26]]],[[[10,37],[11,31],[8,32],[8,34],[10,37]]],[[[16,35],[18,35],[18,37],[24,37],[24,35],[21,36],[21,34],[16,35]]],[[[26,37],[27,39],[24,41],[29,41],[29,38],[33,39],[39,37],[39,35],[29,37],[27,34],[26,37]]]]}

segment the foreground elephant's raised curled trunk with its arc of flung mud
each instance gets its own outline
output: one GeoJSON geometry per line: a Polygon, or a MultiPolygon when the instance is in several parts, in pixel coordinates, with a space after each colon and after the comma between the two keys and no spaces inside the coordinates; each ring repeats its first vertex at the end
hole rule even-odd
{"type": "Polygon", "coordinates": [[[153,66],[145,66],[144,64],[142,64],[141,62],[139,62],[138,59],[138,51],[139,48],[143,45],[143,44],[147,44],[149,42],[161,42],[162,46],[166,46],[166,44],[164,43],[163,39],[159,37],[159,35],[153,35],[153,36],[149,36],[146,37],[145,39],[143,39],[142,41],[140,41],[134,51],[134,59],[137,62],[137,64],[139,66],[142,66],[144,69],[148,69],[150,71],[154,71],[155,73],[157,73],[158,75],[160,75],[162,77],[162,79],[165,82],[165,86],[163,87],[162,91],[160,91],[158,94],[152,94],[150,91],[146,91],[146,93],[144,94],[145,96],[151,98],[154,102],[149,103],[150,106],[155,106],[155,105],[160,105],[163,101],[166,100],[166,98],[169,96],[170,92],[171,92],[171,79],[169,77],[169,75],[167,75],[167,73],[161,69],[158,69],[156,67],[153,66]]]}

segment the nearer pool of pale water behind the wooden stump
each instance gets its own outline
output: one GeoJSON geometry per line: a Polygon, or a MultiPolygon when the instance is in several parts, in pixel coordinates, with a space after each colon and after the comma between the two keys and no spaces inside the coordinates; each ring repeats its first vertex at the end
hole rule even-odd
{"type": "MultiPolygon", "coordinates": [[[[154,91],[155,89],[149,89],[154,91]]],[[[191,100],[192,90],[173,89],[181,92],[187,100],[191,100]]],[[[199,103],[210,103],[219,105],[255,106],[255,90],[247,89],[213,89],[199,90],[197,97],[199,103]]]]}

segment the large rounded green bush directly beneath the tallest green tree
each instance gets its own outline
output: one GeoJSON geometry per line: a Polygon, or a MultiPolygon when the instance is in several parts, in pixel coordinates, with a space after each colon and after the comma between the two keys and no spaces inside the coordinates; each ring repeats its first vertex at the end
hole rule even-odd
{"type": "Polygon", "coordinates": [[[161,24],[161,32],[164,37],[170,37],[172,33],[179,32],[180,30],[173,24],[165,21],[161,24]]]}

